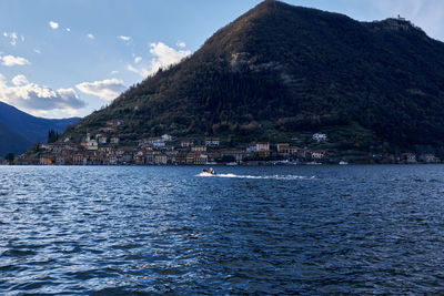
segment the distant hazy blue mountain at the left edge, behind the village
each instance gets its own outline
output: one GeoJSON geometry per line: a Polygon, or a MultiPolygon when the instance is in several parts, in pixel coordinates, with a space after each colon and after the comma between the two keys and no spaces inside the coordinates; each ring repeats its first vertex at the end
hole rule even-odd
{"type": "Polygon", "coordinates": [[[64,132],[68,125],[80,119],[49,120],[32,116],[17,108],[0,102],[0,156],[7,153],[23,153],[36,142],[46,143],[48,132],[64,132]]]}

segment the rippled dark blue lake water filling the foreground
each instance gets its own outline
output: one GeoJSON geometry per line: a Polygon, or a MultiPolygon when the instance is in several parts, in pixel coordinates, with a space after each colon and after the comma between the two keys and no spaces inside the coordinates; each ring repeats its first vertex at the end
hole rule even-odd
{"type": "Polygon", "coordinates": [[[444,293],[444,166],[0,166],[0,294],[444,293]]]}

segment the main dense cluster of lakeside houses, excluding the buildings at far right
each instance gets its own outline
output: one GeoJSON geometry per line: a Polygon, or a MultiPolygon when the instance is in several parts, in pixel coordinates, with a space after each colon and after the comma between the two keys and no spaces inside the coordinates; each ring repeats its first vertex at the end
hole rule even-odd
{"type": "MultiPolygon", "coordinates": [[[[117,124],[121,123],[113,123],[117,124]]],[[[111,125],[111,124],[110,124],[111,125]]],[[[107,126],[114,127],[114,126],[107,126]]],[[[103,131],[100,131],[103,132],[103,131]]],[[[313,140],[319,135],[313,135],[313,140]]],[[[326,139],[326,137],[325,137],[326,139]]],[[[324,137],[321,136],[320,141],[324,137]]],[[[40,156],[20,155],[18,164],[36,165],[208,165],[216,163],[259,164],[272,157],[292,162],[320,161],[327,157],[325,150],[309,150],[289,143],[271,145],[265,142],[228,147],[219,137],[174,139],[169,134],[140,140],[137,145],[123,146],[117,136],[104,133],[87,134],[80,144],[67,139],[62,142],[41,144],[40,156]]]]}

